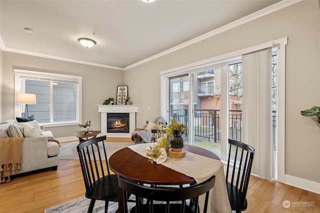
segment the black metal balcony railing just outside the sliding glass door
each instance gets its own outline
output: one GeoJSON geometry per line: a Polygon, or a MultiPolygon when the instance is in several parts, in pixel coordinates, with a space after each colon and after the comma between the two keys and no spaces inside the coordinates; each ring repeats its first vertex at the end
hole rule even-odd
{"type": "MultiPolygon", "coordinates": [[[[276,111],[272,111],[272,141],[273,148],[276,150],[276,111]]],[[[171,110],[171,116],[180,123],[188,127],[188,110],[171,110]]],[[[229,110],[229,138],[242,141],[242,111],[229,110]]],[[[198,110],[194,109],[194,136],[212,140],[221,141],[221,117],[220,110],[198,110]]],[[[188,135],[188,132],[185,132],[188,135]]]]}

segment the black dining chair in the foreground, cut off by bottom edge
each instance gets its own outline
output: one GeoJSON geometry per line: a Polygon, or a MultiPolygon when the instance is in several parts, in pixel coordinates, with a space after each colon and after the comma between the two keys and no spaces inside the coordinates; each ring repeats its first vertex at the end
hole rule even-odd
{"type": "Polygon", "coordinates": [[[214,182],[215,176],[212,176],[202,183],[183,188],[149,187],[118,176],[118,186],[124,191],[124,203],[119,205],[123,205],[124,213],[127,213],[125,194],[129,193],[135,195],[136,200],[135,207],[130,210],[130,213],[198,213],[198,197],[205,194],[203,213],[206,213],[209,190],[213,188],[214,182]],[[148,202],[142,204],[141,199],[147,199],[148,202]],[[189,199],[193,202],[191,206],[186,204],[186,200],[189,199]]]}

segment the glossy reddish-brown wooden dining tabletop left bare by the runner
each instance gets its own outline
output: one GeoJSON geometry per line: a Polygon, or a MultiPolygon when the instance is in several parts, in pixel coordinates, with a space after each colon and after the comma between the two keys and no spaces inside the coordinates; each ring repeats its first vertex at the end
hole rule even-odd
{"type": "MultiPolygon", "coordinates": [[[[220,160],[214,153],[200,147],[185,144],[183,149],[194,154],[220,160]]],[[[147,158],[130,148],[123,148],[112,154],[109,158],[109,166],[114,174],[141,184],[183,185],[195,183],[195,180],[189,176],[155,162],[153,164],[149,163],[147,158]]],[[[119,204],[123,202],[122,196],[123,192],[119,190],[119,204]]],[[[123,211],[123,208],[119,205],[119,213],[123,211]]]]}

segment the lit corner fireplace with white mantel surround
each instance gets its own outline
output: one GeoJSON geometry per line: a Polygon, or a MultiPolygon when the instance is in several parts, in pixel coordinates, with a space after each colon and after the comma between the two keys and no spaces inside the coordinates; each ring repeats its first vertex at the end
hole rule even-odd
{"type": "Polygon", "coordinates": [[[138,105],[96,105],[98,112],[101,113],[101,135],[106,137],[120,137],[120,138],[131,138],[131,133],[135,128],[135,113],[138,112],[138,105]],[[108,117],[113,114],[112,121],[108,122],[108,117]],[[126,118],[123,117],[125,115],[126,118]],[[112,123],[116,121],[121,122],[121,126],[112,123]],[[125,127],[125,124],[127,123],[125,127]]]}

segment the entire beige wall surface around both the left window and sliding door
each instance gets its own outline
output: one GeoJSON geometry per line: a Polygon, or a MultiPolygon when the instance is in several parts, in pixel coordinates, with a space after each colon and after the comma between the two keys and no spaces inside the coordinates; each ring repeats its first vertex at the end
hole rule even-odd
{"type": "MultiPolygon", "coordinates": [[[[95,104],[115,97],[117,85],[128,85],[132,103],[139,105],[139,127],[160,115],[160,71],[283,37],[288,37],[285,174],[320,183],[320,128],[300,115],[301,110],[320,106],[320,10],[316,0],[302,1],[124,72],[3,51],[2,120],[14,116],[13,68],[83,76],[82,120],[90,119],[96,129],[100,115],[95,104]]],[[[78,127],[50,130],[59,138],[71,136],[78,127]]]]}

